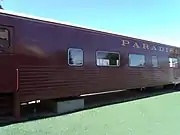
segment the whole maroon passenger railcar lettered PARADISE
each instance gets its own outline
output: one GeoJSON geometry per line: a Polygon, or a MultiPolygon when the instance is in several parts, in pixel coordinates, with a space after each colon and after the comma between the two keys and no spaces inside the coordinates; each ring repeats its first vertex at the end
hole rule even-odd
{"type": "Polygon", "coordinates": [[[178,83],[179,52],[169,45],[0,10],[0,97],[10,94],[18,116],[20,103],[32,100],[178,83]]]}

